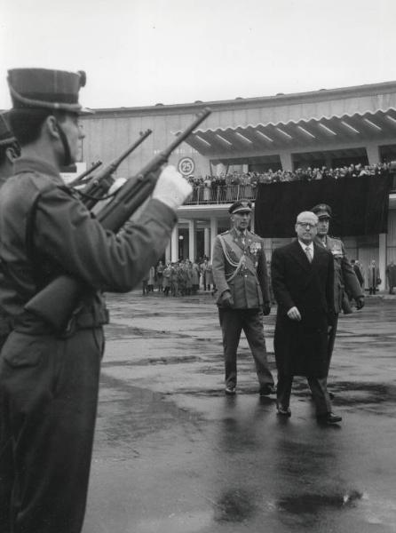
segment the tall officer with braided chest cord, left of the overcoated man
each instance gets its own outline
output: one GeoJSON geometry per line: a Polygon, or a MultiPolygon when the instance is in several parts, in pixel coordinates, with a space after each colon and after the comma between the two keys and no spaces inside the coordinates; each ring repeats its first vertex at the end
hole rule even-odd
{"type": "Polygon", "coordinates": [[[212,260],[218,316],[223,332],[225,392],[235,394],[236,352],[243,330],[256,363],[259,394],[274,394],[263,328],[263,314],[271,311],[264,243],[248,229],[249,201],[233,203],[229,213],[233,228],[216,237],[212,260]]]}

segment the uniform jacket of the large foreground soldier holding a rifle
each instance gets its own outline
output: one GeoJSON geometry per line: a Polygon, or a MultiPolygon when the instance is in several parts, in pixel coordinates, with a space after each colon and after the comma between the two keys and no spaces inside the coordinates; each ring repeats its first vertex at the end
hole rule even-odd
{"type": "Polygon", "coordinates": [[[152,200],[138,222],[115,235],[65,187],[50,163],[21,157],[0,192],[1,311],[22,314],[42,286],[71,274],[84,283],[82,298],[97,313],[98,291],[127,291],[141,282],[161,257],[175,222],[170,208],[152,200]]]}

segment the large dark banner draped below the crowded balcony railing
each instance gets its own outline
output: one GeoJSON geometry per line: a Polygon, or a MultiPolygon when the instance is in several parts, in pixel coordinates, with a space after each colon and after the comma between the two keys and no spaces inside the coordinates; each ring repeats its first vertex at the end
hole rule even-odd
{"type": "Polygon", "coordinates": [[[392,176],[345,177],[317,181],[260,184],[255,204],[255,232],[261,237],[296,235],[298,213],[317,203],[333,210],[330,234],[337,236],[387,233],[392,176]]]}

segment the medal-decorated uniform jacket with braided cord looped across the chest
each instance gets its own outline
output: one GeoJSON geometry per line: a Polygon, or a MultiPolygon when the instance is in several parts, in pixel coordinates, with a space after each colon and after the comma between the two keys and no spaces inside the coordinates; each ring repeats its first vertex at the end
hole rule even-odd
{"type": "Polygon", "coordinates": [[[230,290],[233,296],[234,309],[269,304],[264,243],[258,235],[247,231],[244,243],[235,228],[218,235],[213,247],[212,273],[219,306],[225,290],[230,290]]]}

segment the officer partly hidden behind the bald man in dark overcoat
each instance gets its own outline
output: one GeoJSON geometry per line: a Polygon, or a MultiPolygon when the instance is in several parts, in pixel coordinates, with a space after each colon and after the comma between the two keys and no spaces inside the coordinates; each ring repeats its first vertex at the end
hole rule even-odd
{"type": "MultiPolygon", "coordinates": [[[[343,310],[343,302],[345,305],[347,295],[349,295],[355,300],[356,308],[361,309],[364,306],[364,295],[353,267],[349,262],[349,259],[346,257],[344,243],[340,239],[329,236],[329,222],[332,217],[331,207],[327,203],[319,203],[318,205],[315,205],[311,211],[313,211],[319,219],[318,233],[315,237],[315,242],[329,250],[334,259],[334,310],[336,316],[334,325],[329,330],[329,369],[336,340],[338,315],[343,310]]],[[[346,307],[346,309],[348,308],[346,307]]],[[[352,309],[347,310],[346,312],[348,313],[351,311],[352,309]]],[[[330,397],[332,396],[334,396],[334,394],[330,393],[330,397]]]]}

